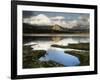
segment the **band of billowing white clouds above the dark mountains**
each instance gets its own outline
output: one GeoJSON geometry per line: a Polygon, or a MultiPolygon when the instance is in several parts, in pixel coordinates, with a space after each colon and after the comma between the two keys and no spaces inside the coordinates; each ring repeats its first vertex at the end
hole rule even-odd
{"type": "Polygon", "coordinates": [[[79,16],[77,19],[66,20],[63,16],[48,17],[44,14],[37,16],[31,16],[30,18],[24,18],[24,23],[31,25],[54,25],[58,24],[64,28],[73,27],[89,27],[89,16],[79,16]]]}

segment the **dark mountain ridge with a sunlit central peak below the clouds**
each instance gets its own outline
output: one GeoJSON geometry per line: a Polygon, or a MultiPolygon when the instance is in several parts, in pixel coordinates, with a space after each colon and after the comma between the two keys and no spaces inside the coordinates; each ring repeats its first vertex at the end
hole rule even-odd
{"type": "Polygon", "coordinates": [[[23,23],[23,33],[76,33],[76,32],[89,32],[88,28],[63,28],[62,26],[55,25],[30,25],[23,23]]]}

